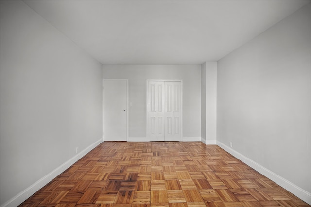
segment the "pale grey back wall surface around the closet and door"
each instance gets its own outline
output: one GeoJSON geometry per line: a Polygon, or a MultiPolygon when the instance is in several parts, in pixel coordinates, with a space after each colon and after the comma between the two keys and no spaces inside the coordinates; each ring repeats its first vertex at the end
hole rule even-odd
{"type": "Polygon", "coordinates": [[[200,65],[103,65],[104,79],[129,80],[129,137],[147,138],[147,79],[183,80],[183,137],[201,137],[200,65]]]}

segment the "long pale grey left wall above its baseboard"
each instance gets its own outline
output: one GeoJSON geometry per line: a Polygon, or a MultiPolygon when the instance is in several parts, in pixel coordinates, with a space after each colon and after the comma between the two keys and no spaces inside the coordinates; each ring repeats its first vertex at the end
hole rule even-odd
{"type": "Polygon", "coordinates": [[[22,1],[1,1],[1,202],[101,139],[102,65],[22,1]]]}

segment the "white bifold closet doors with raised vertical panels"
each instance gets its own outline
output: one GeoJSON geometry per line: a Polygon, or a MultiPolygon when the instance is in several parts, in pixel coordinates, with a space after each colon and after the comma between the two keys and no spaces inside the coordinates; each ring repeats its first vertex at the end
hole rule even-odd
{"type": "Polygon", "coordinates": [[[180,81],[148,81],[148,141],[181,141],[180,81]]]}

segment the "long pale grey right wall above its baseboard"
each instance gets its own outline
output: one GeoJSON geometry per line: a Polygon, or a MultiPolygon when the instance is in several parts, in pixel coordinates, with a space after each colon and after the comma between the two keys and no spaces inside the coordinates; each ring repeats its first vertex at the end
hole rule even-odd
{"type": "Polygon", "coordinates": [[[311,192],[310,4],[218,61],[217,140],[311,192]]]}

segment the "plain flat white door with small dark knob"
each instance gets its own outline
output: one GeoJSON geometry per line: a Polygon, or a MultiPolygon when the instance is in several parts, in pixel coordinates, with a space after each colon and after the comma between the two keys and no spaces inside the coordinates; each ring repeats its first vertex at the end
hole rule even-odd
{"type": "Polygon", "coordinates": [[[104,141],[127,141],[127,80],[103,81],[104,141]]]}

